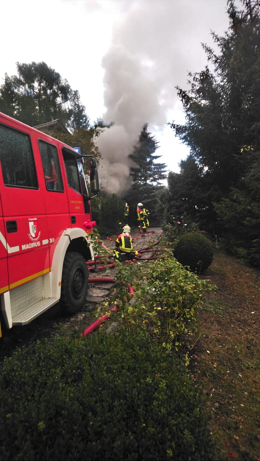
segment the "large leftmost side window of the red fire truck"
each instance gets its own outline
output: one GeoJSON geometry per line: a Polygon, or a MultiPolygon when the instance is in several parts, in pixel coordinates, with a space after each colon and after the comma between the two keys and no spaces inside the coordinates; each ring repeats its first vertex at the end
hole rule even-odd
{"type": "Polygon", "coordinates": [[[29,135],[0,124],[0,162],[7,187],[38,189],[29,135]]]}

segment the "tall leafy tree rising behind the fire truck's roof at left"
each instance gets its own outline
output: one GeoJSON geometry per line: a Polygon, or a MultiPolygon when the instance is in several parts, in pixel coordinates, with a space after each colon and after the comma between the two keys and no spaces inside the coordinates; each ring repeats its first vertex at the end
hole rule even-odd
{"type": "Polygon", "coordinates": [[[69,129],[89,128],[78,91],[45,62],[16,63],[18,75],[5,75],[0,111],[36,126],[56,118],[69,129]]]}

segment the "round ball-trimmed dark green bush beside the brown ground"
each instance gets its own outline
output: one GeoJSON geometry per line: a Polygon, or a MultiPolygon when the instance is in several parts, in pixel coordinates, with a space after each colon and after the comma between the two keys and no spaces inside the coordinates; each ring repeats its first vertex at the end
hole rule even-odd
{"type": "Polygon", "coordinates": [[[182,235],[174,248],[174,256],[192,272],[205,271],[213,261],[213,247],[207,237],[197,232],[182,235]]]}

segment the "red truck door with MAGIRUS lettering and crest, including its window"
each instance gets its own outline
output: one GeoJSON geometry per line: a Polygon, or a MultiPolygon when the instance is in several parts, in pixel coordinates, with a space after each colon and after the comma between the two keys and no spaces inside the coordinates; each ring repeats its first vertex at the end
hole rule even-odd
{"type": "MultiPolygon", "coordinates": [[[[28,131],[0,124],[0,191],[10,290],[50,271],[47,219],[28,131]]],[[[20,125],[18,125],[20,128],[20,125]]],[[[2,244],[1,244],[2,245],[2,244]]]]}

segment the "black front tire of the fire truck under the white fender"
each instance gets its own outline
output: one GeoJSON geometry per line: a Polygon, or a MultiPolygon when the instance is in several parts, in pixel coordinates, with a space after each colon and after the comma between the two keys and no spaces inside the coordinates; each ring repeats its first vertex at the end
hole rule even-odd
{"type": "Polygon", "coordinates": [[[81,307],[88,294],[89,272],[83,256],[69,252],[65,255],[60,291],[61,312],[74,314],[81,307]]]}

